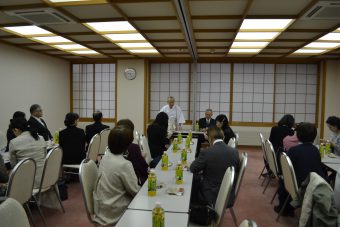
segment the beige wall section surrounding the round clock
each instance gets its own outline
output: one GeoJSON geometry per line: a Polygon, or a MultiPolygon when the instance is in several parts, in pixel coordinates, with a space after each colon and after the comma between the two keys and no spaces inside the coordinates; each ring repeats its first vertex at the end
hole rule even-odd
{"type": "Polygon", "coordinates": [[[145,60],[118,60],[117,64],[117,120],[129,118],[135,129],[143,133],[145,60]],[[124,76],[128,67],[137,72],[134,80],[124,76]]]}

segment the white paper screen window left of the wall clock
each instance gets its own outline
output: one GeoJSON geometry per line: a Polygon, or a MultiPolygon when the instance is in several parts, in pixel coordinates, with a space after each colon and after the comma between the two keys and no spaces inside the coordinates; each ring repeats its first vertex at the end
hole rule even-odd
{"type": "Polygon", "coordinates": [[[73,112],[92,118],[100,110],[115,118],[115,64],[73,64],[73,112]]]}

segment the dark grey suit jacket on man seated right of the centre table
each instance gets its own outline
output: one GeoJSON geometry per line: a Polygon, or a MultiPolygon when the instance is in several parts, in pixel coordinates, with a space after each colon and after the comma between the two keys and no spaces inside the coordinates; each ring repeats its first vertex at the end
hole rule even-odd
{"type": "MultiPolygon", "coordinates": [[[[203,198],[200,200],[208,204],[215,204],[225,171],[228,167],[233,166],[238,173],[239,165],[238,151],[223,142],[217,142],[212,147],[201,151],[190,166],[190,171],[194,174],[203,171],[203,181],[199,185],[200,195],[198,196],[203,198]]],[[[237,174],[235,174],[236,178],[237,174]]]]}

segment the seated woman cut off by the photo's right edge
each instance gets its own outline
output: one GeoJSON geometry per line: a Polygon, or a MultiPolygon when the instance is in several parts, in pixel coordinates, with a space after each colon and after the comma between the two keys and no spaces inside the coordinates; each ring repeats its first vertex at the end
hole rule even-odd
{"type": "Polygon", "coordinates": [[[340,118],[331,116],[327,118],[327,126],[331,130],[332,135],[329,141],[321,140],[322,142],[330,142],[332,152],[340,155],[340,118]]]}

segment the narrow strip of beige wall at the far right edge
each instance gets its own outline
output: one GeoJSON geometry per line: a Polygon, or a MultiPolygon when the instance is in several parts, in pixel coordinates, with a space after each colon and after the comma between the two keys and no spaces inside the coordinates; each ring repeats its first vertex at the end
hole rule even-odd
{"type": "MultiPolygon", "coordinates": [[[[325,121],[329,116],[340,117],[340,61],[326,61],[326,99],[325,99],[325,121]]],[[[329,138],[330,131],[324,124],[324,138],[329,138]]]]}

